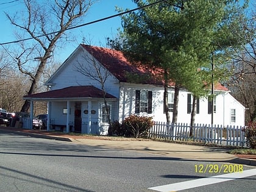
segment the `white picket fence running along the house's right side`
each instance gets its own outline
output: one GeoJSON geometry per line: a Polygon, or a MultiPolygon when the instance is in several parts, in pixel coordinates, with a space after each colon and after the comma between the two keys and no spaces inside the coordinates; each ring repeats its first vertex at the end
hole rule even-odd
{"type": "Polygon", "coordinates": [[[246,146],[246,137],[243,126],[212,126],[210,124],[178,123],[168,124],[155,122],[149,131],[149,137],[165,140],[194,141],[200,143],[213,143],[226,146],[246,146]],[[190,136],[190,130],[192,134],[190,136]]]}

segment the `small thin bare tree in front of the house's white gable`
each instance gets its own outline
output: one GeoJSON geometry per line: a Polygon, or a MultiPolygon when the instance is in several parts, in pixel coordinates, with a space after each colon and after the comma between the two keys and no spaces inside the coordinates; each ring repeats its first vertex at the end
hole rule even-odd
{"type": "Polygon", "coordinates": [[[79,60],[77,60],[77,63],[76,65],[74,65],[74,67],[77,72],[84,75],[85,77],[90,78],[95,82],[98,82],[98,84],[100,85],[101,90],[103,91],[102,96],[104,99],[104,105],[107,113],[108,124],[112,126],[110,111],[107,107],[108,106],[107,99],[106,99],[107,90],[105,87],[105,82],[108,79],[108,77],[111,76],[111,73],[108,71],[108,69],[106,69],[103,65],[101,65],[101,63],[99,63],[101,61],[97,61],[93,57],[93,53],[90,53],[90,55],[85,53],[82,59],[83,59],[83,62],[80,62],[79,60]]]}

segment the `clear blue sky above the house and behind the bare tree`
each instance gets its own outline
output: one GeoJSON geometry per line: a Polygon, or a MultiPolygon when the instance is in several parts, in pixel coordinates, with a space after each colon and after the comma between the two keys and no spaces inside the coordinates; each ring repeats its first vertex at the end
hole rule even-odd
{"type": "MultiPolygon", "coordinates": [[[[23,0],[0,0],[0,43],[16,40],[13,35],[15,28],[10,24],[10,21],[7,20],[4,12],[9,12],[10,15],[12,15],[12,13],[14,14],[16,11],[20,11],[22,6],[23,0]]],[[[108,16],[116,15],[118,14],[118,12],[116,12],[116,6],[123,8],[124,10],[137,8],[137,5],[134,4],[132,0],[99,0],[92,5],[90,10],[88,10],[87,15],[84,17],[84,20],[79,24],[85,24],[108,16]]],[[[57,60],[60,62],[65,61],[74,49],[77,48],[79,43],[82,43],[83,37],[85,37],[91,45],[105,46],[105,39],[107,37],[115,37],[119,27],[121,27],[121,19],[117,16],[99,23],[79,27],[77,29],[71,29],[69,32],[76,36],[76,41],[69,41],[65,44],[65,49],[56,50],[55,57],[57,57],[57,60]]],[[[9,44],[7,47],[13,45],[14,44],[9,44]]]]}

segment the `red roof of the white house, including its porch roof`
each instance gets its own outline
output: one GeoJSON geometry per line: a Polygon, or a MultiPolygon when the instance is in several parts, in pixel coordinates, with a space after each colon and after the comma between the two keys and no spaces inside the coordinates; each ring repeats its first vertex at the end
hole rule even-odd
{"type": "MultiPolygon", "coordinates": [[[[93,57],[107,68],[120,82],[134,81],[134,83],[138,84],[164,84],[161,70],[149,69],[142,65],[134,65],[124,57],[121,51],[85,44],[81,44],[81,46],[93,55],[93,57]],[[138,79],[136,79],[136,77],[138,77],[138,79]]],[[[174,83],[169,85],[174,85],[174,83]]],[[[215,84],[215,90],[228,91],[228,89],[221,84],[215,84]]],[[[103,98],[103,91],[93,86],[76,86],[24,96],[24,99],[33,98],[103,98]]],[[[106,98],[115,98],[115,96],[107,93],[106,98]]]]}

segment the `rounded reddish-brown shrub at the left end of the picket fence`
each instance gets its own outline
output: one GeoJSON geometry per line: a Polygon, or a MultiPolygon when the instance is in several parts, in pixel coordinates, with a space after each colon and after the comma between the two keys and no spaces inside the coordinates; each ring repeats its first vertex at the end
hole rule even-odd
{"type": "Polygon", "coordinates": [[[124,119],[121,125],[126,137],[147,137],[149,129],[154,126],[151,117],[130,115],[124,119]]]}

